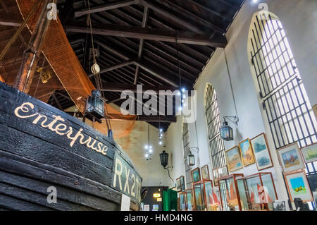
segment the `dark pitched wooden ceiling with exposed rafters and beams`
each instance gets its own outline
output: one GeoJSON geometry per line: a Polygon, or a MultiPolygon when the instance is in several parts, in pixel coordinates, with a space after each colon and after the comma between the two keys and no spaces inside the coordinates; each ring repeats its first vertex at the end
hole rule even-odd
{"type": "MultiPolygon", "coordinates": [[[[10,2],[5,1],[14,7],[10,2]]],[[[135,85],[166,87],[165,90],[179,90],[181,86],[192,90],[216,47],[227,44],[224,34],[243,2],[89,0],[105,98],[120,106],[122,87],[133,90],[135,85]]],[[[87,26],[88,1],[58,0],[57,3],[68,40],[82,67],[90,74],[92,41],[87,26]]],[[[90,78],[94,83],[94,76],[90,78]]],[[[52,95],[49,103],[61,109],[73,105],[63,91],[52,95]]],[[[157,120],[157,116],[147,119],[159,128],[157,120]]],[[[175,118],[161,116],[160,121],[161,128],[166,130],[175,118]]]]}

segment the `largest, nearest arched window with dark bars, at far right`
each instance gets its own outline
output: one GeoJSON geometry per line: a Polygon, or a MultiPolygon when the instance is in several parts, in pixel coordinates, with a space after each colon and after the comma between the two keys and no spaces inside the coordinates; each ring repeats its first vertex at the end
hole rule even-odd
{"type": "MultiPolygon", "coordinates": [[[[300,147],[315,143],[316,118],[285,30],[273,13],[254,15],[249,54],[276,150],[293,142],[300,147]]],[[[307,164],[307,173],[316,174],[316,166],[307,164]]]]}

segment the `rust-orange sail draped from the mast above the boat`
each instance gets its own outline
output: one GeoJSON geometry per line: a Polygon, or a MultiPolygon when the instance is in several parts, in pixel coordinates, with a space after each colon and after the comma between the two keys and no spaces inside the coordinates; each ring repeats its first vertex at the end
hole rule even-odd
{"type": "MultiPolygon", "coordinates": [[[[31,11],[36,0],[16,0],[16,2],[24,19],[31,11]]],[[[38,11],[34,13],[34,16],[32,16],[27,23],[27,28],[31,33],[34,30],[35,21],[39,15],[40,8],[41,7],[39,7],[38,11]]],[[[65,89],[76,107],[83,112],[85,110],[85,101],[82,99],[86,99],[91,95],[92,90],[95,90],[96,87],[94,87],[92,81],[89,80],[87,73],[85,73],[82,68],[80,61],[78,61],[75,52],[68,42],[66,33],[63,30],[63,25],[61,25],[58,16],[57,20],[51,20],[42,51],[46,57],[46,61],[56,75],[53,75],[45,84],[41,81],[38,82],[36,78],[33,79],[30,95],[34,95],[35,90],[37,90],[35,97],[47,102],[55,90],[65,89]]],[[[111,119],[113,136],[120,138],[124,135],[128,135],[133,129],[136,116],[124,116],[120,111],[113,109],[113,107],[108,104],[105,104],[105,108],[107,118],[111,119]]],[[[94,123],[94,128],[104,134],[108,132],[105,120],[103,120],[101,124],[94,123]]]]}

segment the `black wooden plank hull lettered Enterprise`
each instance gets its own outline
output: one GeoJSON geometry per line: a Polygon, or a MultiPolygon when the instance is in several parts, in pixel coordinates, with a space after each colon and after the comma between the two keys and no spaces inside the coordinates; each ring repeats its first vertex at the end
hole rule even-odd
{"type": "Polygon", "coordinates": [[[141,184],[116,142],[0,82],[0,210],[137,210],[141,184]]]}

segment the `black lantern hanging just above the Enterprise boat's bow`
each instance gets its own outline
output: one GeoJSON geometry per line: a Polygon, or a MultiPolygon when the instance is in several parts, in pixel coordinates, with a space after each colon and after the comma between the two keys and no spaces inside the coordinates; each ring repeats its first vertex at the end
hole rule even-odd
{"type": "Polygon", "coordinates": [[[98,120],[104,118],[104,100],[101,98],[101,92],[99,90],[92,90],[92,96],[88,97],[86,113],[88,118],[95,117],[98,120]]]}

